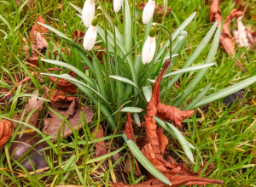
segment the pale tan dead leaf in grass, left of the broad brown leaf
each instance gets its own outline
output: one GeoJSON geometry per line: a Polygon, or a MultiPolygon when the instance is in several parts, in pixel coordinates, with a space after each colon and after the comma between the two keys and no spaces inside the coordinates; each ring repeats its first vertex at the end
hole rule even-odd
{"type": "MultiPolygon", "coordinates": [[[[48,98],[48,88],[47,87],[42,87],[42,90],[44,92],[44,94],[41,96],[41,98],[47,99],[48,98]]],[[[38,123],[38,118],[40,115],[40,111],[43,110],[44,107],[44,100],[42,99],[38,99],[38,90],[33,94],[35,97],[31,97],[30,99],[28,99],[28,103],[26,104],[25,107],[25,115],[23,116],[23,120],[22,122],[26,122],[26,118],[28,117],[28,115],[30,114],[30,112],[34,109],[36,109],[37,111],[34,111],[32,113],[32,116],[30,116],[29,120],[28,120],[28,124],[32,125],[33,127],[37,127],[37,123],[38,123]]],[[[20,117],[22,116],[23,111],[20,111],[19,114],[15,114],[13,117],[15,120],[20,121],[20,117]]],[[[18,126],[18,122],[14,122],[14,127],[18,126]]],[[[20,125],[20,128],[22,128],[23,125],[20,125]]],[[[29,127],[26,127],[26,129],[28,129],[29,127]]]]}

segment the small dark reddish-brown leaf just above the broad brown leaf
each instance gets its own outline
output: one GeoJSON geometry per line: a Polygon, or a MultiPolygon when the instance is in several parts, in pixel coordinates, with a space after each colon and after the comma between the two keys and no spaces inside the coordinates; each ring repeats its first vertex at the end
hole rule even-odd
{"type": "MultiPolygon", "coordinates": [[[[69,75],[74,78],[76,77],[76,74],[73,71],[69,71],[69,75]]],[[[55,83],[58,80],[58,78],[49,77],[49,80],[55,83]]],[[[77,93],[77,86],[63,78],[59,79],[59,81],[57,82],[57,87],[60,87],[63,91],[67,92],[68,94],[77,93]]]]}

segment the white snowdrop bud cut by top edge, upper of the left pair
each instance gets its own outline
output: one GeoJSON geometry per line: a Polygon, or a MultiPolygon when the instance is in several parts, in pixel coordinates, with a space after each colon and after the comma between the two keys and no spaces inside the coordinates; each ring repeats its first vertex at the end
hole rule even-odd
{"type": "Polygon", "coordinates": [[[85,0],[82,20],[85,27],[89,27],[95,15],[95,0],[85,0]]]}

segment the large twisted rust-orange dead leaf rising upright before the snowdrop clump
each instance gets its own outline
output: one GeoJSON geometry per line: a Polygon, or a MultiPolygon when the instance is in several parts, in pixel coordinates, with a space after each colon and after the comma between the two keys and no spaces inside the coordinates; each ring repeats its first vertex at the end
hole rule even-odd
{"type": "MultiPolygon", "coordinates": [[[[166,139],[166,136],[163,134],[163,129],[161,127],[157,127],[156,122],[154,121],[154,116],[158,116],[165,121],[171,120],[177,126],[181,126],[181,122],[186,117],[189,117],[194,113],[194,111],[180,111],[173,106],[167,106],[160,103],[160,82],[169,65],[170,60],[166,59],[166,63],[162,71],[160,71],[159,77],[157,77],[156,82],[154,82],[152,98],[150,99],[147,105],[146,116],[144,116],[144,118],[148,144],[145,144],[143,146],[143,155],[146,156],[148,161],[150,161],[154,165],[154,167],[159,169],[160,172],[163,173],[166,176],[166,178],[168,178],[171,181],[172,186],[181,186],[183,184],[222,184],[222,180],[199,178],[200,173],[193,173],[187,167],[184,167],[183,164],[177,164],[174,161],[166,161],[163,157],[166,144],[168,144],[168,139],[166,139]]],[[[127,119],[129,119],[128,116],[127,119]]],[[[126,122],[126,126],[131,125],[127,125],[126,122]]],[[[113,184],[113,187],[125,186],[128,187],[131,185],[125,185],[122,183],[113,184]]],[[[164,187],[169,185],[164,184],[158,178],[152,178],[143,184],[136,184],[134,186],[164,187]]]]}

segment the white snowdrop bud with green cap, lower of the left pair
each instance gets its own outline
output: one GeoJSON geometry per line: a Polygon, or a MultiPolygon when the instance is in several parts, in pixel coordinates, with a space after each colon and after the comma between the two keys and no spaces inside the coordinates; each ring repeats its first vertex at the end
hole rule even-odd
{"type": "Polygon", "coordinates": [[[86,31],[84,35],[83,46],[85,50],[90,51],[94,47],[94,44],[96,42],[96,37],[97,37],[97,27],[96,27],[97,23],[98,23],[98,19],[94,18],[92,20],[92,23],[89,29],[86,31]]]}

